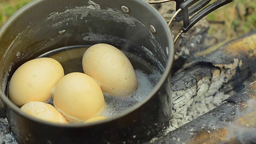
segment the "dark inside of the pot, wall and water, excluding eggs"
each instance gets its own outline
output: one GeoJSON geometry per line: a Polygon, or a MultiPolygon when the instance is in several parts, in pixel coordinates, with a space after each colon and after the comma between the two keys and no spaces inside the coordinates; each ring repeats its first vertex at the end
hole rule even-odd
{"type": "Polygon", "coordinates": [[[137,95],[126,102],[105,97],[107,105],[114,107],[107,112],[109,116],[148,96],[168,66],[168,58],[172,57],[168,55],[173,55],[168,26],[146,2],[38,0],[21,9],[0,31],[0,88],[7,94],[15,70],[39,57],[54,58],[62,64],[65,74],[83,72],[84,52],[98,43],[122,50],[139,83],[137,95]]]}

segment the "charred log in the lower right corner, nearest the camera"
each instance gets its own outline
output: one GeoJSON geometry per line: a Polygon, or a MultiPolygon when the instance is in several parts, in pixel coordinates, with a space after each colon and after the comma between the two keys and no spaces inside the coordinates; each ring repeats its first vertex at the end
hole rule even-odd
{"type": "Polygon", "coordinates": [[[256,82],[154,144],[256,143],[256,82]]]}

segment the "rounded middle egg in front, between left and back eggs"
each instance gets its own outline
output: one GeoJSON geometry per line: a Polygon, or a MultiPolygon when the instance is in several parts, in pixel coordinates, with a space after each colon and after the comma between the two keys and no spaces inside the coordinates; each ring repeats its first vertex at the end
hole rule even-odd
{"type": "Polygon", "coordinates": [[[83,123],[105,107],[98,83],[79,72],[67,74],[58,82],[53,99],[54,106],[72,123],[83,123]]]}

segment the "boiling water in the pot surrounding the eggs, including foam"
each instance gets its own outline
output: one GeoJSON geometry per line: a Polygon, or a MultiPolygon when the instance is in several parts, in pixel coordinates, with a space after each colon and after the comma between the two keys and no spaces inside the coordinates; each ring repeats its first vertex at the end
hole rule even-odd
{"type": "MultiPolygon", "coordinates": [[[[38,58],[49,57],[57,60],[62,65],[65,75],[72,72],[84,73],[82,68],[82,57],[88,48],[89,46],[69,46],[47,52],[38,58]]],[[[142,58],[143,54],[122,52],[128,57],[134,67],[138,79],[138,89],[131,96],[125,97],[115,97],[109,94],[104,94],[106,108],[101,112],[101,115],[103,116],[114,116],[143,100],[148,96],[162,75],[153,60],[151,61],[142,58]]],[[[48,103],[52,104],[51,101],[48,103]]]]}

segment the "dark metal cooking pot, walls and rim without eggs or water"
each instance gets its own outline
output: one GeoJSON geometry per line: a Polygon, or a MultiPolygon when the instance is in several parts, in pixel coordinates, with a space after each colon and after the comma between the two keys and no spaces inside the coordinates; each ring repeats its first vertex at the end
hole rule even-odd
{"type": "Polygon", "coordinates": [[[0,98],[16,140],[20,144],[133,144],[161,136],[172,114],[169,72],[173,51],[164,18],[143,0],[31,2],[0,30],[0,98]],[[122,11],[122,6],[129,12],[122,11]],[[24,62],[64,46],[96,43],[122,45],[120,49],[152,55],[162,64],[162,78],[147,98],[102,122],[64,125],[32,118],[6,97],[8,80],[24,62]],[[137,45],[150,52],[133,49],[137,45]]]}

